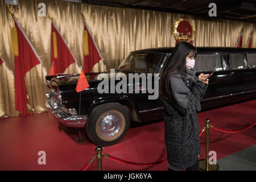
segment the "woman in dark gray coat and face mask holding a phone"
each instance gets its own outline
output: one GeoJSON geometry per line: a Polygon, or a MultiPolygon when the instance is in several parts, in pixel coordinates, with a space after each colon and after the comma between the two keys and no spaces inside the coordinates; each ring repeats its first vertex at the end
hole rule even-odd
{"type": "Polygon", "coordinates": [[[197,111],[208,87],[207,75],[195,76],[197,50],[179,42],[166,60],[160,90],[164,103],[168,170],[199,169],[199,122],[197,111]]]}

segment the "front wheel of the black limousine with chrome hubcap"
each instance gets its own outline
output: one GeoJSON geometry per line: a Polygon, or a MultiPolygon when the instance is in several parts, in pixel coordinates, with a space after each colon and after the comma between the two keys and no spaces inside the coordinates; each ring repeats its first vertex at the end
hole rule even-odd
{"type": "Polygon", "coordinates": [[[93,143],[110,146],[125,137],[130,126],[129,113],[118,103],[96,106],[86,121],[86,133],[93,143]]]}

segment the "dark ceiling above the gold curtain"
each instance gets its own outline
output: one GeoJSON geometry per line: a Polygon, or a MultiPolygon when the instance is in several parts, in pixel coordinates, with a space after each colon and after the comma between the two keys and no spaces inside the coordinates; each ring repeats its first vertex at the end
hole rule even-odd
{"type": "Polygon", "coordinates": [[[208,15],[209,3],[216,3],[217,18],[256,23],[256,0],[82,0],[82,2],[190,14],[205,19],[216,18],[208,15]]]}

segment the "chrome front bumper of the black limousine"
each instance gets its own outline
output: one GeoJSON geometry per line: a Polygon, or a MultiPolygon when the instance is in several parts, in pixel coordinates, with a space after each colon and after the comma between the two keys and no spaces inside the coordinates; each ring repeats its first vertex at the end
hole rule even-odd
{"type": "Polygon", "coordinates": [[[67,114],[61,109],[61,106],[58,106],[56,103],[57,102],[55,102],[52,97],[46,99],[46,107],[58,119],[59,122],[69,127],[85,126],[87,115],[67,114]]]}

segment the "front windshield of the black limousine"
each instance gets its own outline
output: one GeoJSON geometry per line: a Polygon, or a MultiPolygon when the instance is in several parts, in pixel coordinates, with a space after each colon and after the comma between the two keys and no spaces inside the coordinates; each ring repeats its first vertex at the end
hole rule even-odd
{"type": "Polygon", "coordinates": [[[163,53],[131,53],[119,65],[119,70],[154,73],[163,53]]]}

